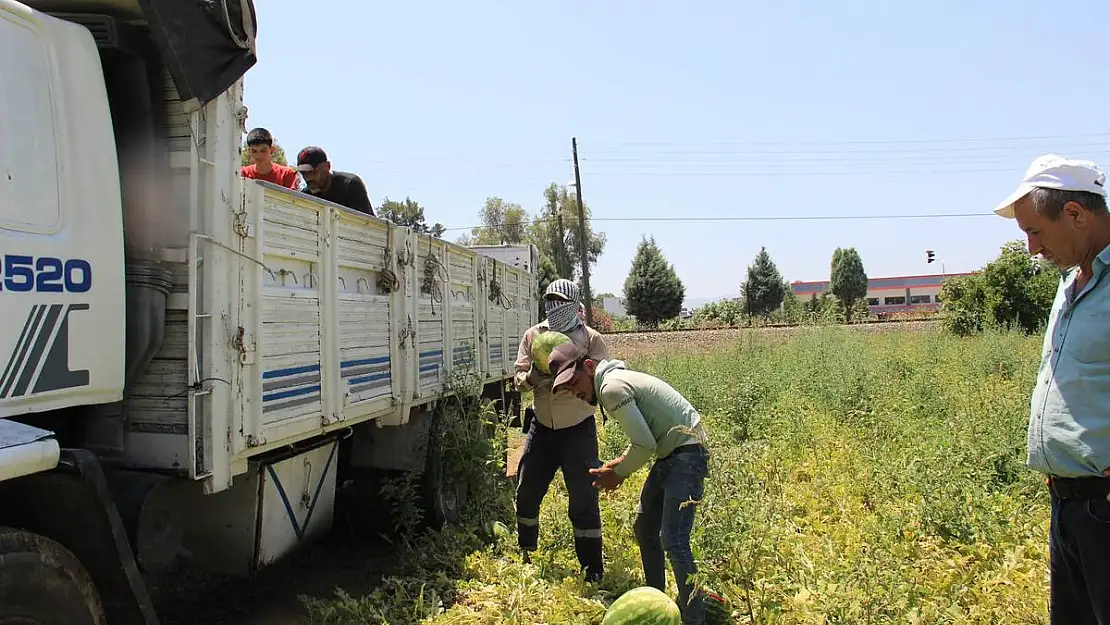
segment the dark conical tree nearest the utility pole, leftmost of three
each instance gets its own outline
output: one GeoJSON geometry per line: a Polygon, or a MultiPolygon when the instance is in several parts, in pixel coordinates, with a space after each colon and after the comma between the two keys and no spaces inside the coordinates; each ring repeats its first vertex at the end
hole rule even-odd
{"type": "Polygon", "coordinates": [[[682,312],[686,288],[675,268],[663,258],[655,238],[640,240],[632,271],[625,279],[624,294],[628,314],[650,327],[682,312]]]}

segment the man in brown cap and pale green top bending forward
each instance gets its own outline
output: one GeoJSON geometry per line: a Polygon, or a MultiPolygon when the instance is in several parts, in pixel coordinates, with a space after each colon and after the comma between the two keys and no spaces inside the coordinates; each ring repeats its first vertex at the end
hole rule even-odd
{"type": "Polygon", "coordinates": [[[564,344],[552,350],[548,364],[556,395],[601,404],[628,436],[620,457],[591,470],[595,486],[617,488],[655,456],[633,526],[644,579],[666,591],[666,554],[675,572],[683,623],[705,623],[704,595],[698,592],[692,601],[694,587],[688,581],[697,572],[690,551],[694,511],[709,473],[707,438],[697,410],[663,380],[632,371],[618,360],[582,356],[564,344]]]}

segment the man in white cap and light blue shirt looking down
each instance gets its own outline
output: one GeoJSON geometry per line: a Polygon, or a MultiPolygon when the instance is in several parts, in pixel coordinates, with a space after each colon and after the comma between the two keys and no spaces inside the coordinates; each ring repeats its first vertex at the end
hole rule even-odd
{"type": "Polygon", "coordinates": [[[1027,465],[1047,476],[1050,621],[1110,624],[1110,214],[1106,174],[1047,154],[995,212],[1066,270],[1029,403],[1027,465]]]}

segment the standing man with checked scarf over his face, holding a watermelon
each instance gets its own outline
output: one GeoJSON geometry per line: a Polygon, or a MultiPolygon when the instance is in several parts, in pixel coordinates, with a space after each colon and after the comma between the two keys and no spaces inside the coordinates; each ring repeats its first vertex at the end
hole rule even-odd
{"type": "Polygon", "coordinates": [[[569,280],[552,282],[544,293],[547,319],[533,325],[521,337],[514,382],[533,392],[534,416],[525,425],[524,452],[517,466],[516,535],[527,555],[539,541],[539,506],[555,472],[563,470],[569,497],[567,516],[574,526],[574,551],[586,579],[602,578],[602,512],[589,470],[597,460],[597,424],[594,406],[574,396],[552,394],[552,376],[532,362],[532,341],[543,332],[562,332],[571,339],[565,345],[576,354],[593,359],[608,357],[601,333],[578,316],[578,285],[569,280]]]}

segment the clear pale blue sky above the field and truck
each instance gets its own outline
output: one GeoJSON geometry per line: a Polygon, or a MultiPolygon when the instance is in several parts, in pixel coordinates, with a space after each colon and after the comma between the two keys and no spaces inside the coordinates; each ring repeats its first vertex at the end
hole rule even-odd
{"type": "Polygon", "coordinates": [[[837,246],[871,276],[939,273],[926,249],[971,271],[1013,222],[636,219],[985,213],[1040,153],[1110,164],[1104,0],[256,8],[248,127],[291,159],[323,147],[375,206],[408,195],[447,226],[493,195],[535,211],[573,181],[577,137],[608,236],[595,293],[620,292],[643,235],[688,299],[738,293],[760,245],[788,280],[827,279],[837,246]]]}

